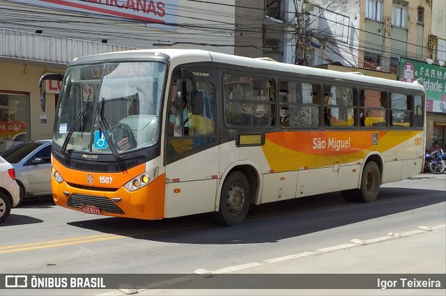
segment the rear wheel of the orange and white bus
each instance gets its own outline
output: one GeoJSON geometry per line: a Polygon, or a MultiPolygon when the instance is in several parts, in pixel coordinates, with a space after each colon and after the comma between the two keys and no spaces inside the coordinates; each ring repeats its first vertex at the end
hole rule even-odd
{"type": "Polygon", "coordinates": [[[361,188],[358,191],[357,198],[364,203],[375,201],[380,187],[380,171],[376,162],[367,162],[362,171],[361,188]]]}

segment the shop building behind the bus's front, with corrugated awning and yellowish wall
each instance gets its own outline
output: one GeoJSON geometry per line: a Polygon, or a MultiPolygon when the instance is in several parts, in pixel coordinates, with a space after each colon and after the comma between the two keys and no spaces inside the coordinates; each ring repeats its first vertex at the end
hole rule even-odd
{"type": "Polygon", "coordinates": [[[78,56],[137,48],[196,48],[233,54],[235,0],[0,0],[0,152],[51,139],[63,73],[78,56]],[[38,13],[36,13],[38,11],[38,13]]]}

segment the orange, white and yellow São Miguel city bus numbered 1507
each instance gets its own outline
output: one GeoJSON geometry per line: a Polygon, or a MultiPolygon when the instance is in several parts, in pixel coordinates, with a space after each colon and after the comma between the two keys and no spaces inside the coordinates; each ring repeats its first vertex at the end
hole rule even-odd
{"type": "Polygon", "coordinates": [[[195,49],[84,56],[45,79],[62,81],[54,202],[91,215],[234,226],[289,198],[369,203],[422,171],[419,84],[195,49]]]}

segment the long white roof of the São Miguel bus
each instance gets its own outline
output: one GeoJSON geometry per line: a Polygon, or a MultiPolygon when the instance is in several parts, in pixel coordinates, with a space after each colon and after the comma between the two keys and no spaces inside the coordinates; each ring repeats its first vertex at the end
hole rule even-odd
{"type": "Polygon", "coordinates": [[[202,49],[135,49],[123,52],[109,52],[74,59],[69,66],[84,63],[98,63],[102,61],[144,60],[153,58],[167,60],[173,66],[182,63],[213,61],[215,63],[241,65],[254,69],[268,69],[280,72],[298,73],[299,75],[308,75],[309,77],[323,76],[341,79],[344,81],[361,81],[371,84],[383,84],[386,86],[424,91],[424,87],[421,84],[416,83],[410,84],[403,81],[359,75],[357,72],[339,72],[335,70],[312,68],[303,65],[280,63],[266,59],[253,59],[245,56],[234,56],[219,52],[209,52],[202,49]]]}

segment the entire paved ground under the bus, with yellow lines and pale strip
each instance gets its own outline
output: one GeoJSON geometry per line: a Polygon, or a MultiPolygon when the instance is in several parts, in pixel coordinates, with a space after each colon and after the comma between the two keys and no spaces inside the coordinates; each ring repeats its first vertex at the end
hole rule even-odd
{"type": "MultiPolygon", "coordinates": [[[[210,215],[139,221],[29,201],[0,226],[0,274],[214,275],[179,281],[187,290],[132,283],[137,295],[445,295],[444,282],[443,290],[238,290],[235,282],[237,290],[193,290],[218,274],[446,274],[445,192],[446,174],[420,174],[383,185],[375,203],[347,203],[339,193],[282,201],[252,208],[236,227],[210,215]]],[[[124,283],[0,295],[125,295],[115,289],[124,283]]]]}

